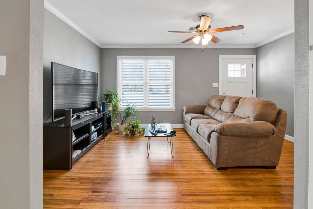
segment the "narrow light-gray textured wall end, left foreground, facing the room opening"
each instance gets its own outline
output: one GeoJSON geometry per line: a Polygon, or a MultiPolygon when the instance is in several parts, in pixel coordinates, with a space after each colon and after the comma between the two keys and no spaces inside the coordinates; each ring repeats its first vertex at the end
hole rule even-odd
{"type": "Polygon", "coordinates": [[[44,0],[30,0],[29,34],[29,198],[30,208],[42,208],[44,0]]]}

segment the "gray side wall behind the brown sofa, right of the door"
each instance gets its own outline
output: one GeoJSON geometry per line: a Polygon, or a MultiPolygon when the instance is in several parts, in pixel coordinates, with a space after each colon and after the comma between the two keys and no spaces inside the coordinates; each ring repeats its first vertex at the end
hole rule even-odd
{"type": "Polygon", "coordinates": [[[257,97],[276,103],[288,114],[286,134],[294,136],[295,34],[256,49],[257,97]]]}

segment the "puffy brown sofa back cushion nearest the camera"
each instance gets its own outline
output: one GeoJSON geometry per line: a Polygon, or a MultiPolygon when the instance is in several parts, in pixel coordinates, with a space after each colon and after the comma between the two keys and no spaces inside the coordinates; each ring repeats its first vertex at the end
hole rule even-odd
{"type": "Polygon", "coordinates": [[[242,97],[234,115],[240,118],[250,118],[250,121],[274,123],[278,110],[272,101],[255,97],[242,97]]]}

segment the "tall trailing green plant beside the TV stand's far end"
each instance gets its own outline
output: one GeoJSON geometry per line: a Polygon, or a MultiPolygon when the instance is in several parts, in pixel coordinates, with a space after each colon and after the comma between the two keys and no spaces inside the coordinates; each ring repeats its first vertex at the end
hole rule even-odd
{"type": "Polygon", "coordinates": [[[105,101],[108,102],[106,104],[107,110],[111,110],[112,112],[112,129],[114,129],[114,122],[117,118],[117,115],[120,114],[119,108],[121,99],[118,97],[118,93],[112,89],[105,89],[104,97],[105,101]]]}

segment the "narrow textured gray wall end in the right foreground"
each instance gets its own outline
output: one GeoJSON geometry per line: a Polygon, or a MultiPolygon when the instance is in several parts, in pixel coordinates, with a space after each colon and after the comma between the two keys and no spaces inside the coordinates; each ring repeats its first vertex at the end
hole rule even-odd
{"type": "Polygon", "coordinates": [[[295,0],[294,208],[308,208],[309,28],[309,0],[295,0]]]}

